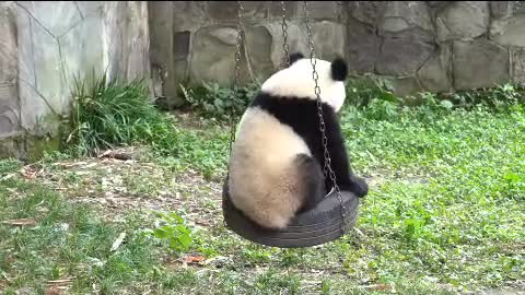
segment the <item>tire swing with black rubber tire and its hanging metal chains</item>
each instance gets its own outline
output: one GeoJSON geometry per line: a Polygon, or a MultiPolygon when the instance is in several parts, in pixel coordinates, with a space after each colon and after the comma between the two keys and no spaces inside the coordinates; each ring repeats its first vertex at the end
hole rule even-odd
{"type": "MultiPolygon", "coordinates": [[[[237,51],[235,55],[235,78],[234,78],[234,95],[237,94],[237,82],[241,62],[242,46],[242,23],[241,15],[243,5],[238,3],[238,24],[237,24],[237,51]]],[[[283,49],[287,55],[287,63],[290,63],[289,48],[287,44],[287,20],[284,2],[281,1],[282,11],[282,32],[283,32],[283,49]]],[[[270,247],[279,248],[303,248],[312,247],[328,241],[332,241],[343,236],[347,231],[354,226],[358,216],[359,198],[349,191],[340,191],[336,182],[336,175],[330,166],[330,155],[327,149],[327,138],[325,135],[323,109],[320,103],[320,88],[317,85],[317,72],[315,70],[314,44],[312,42],[312,27],[310,25],[310,13],[307,1],[304,1],[305,21],[307,27],[307,38],[310,46],[310,59],[314,69],[313,79],[315,81],[315,93],[317,95],[317,110],[319,116],[319,130],[323,137],[323,145],[325,152],[325,179],[327,173],[334,184],[331,191],[313,209],[299,213],[287,228],[277,231],[268,229],[259,226],[255,222],[247,219],[240,210],[237,210],[230,200],[228,189],[228,176],[224,181],[222,193],[222,209],[224,224],[241,237],[270,247]]],[[[230,138],[230,155],[232,154],[232,145],[235,138],[235,121],[233,114],[231,117],[231,138],[230,138]]]]}

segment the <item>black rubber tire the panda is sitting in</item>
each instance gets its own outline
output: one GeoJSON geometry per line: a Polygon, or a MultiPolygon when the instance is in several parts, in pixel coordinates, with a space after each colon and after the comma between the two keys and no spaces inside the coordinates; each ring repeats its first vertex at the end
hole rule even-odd
{"type": "Polygon", "coordinates": [[[359,198],[348,191],[341,191],[341,197],[346,206],[345,221],[337,193],[332,191],[312,210],[298,214],[287,228],[277,231],[259,226],[237,210],[229,198],[225,184],[222,194],[223,216],[228,228],[254,243],[279,248],[312,247],[341,237],[343,225],[347,231],[354,226],[359,198]]]}

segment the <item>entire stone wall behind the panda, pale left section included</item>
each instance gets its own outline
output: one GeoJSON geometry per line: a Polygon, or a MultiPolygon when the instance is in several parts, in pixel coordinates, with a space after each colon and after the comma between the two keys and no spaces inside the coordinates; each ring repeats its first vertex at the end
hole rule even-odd
{"type": "MultiPolygon", "coordinates": [[[[525,82],[525,1],[312,1],[317,56],[388,79],[399,95],[525,82]]],[[[308,54],[302,1],[285,2],[290,50],[308,54]]],[[[231,85],[236,1],[1,1],[0,155],[56,134],[73,75],[144,78],[177,106],[179,83],[231,85]],[[8,140],[7,140],[8,139],[8,140]]],[[[242,83],[283,60],[279,1],[245,1],[242,83]]],[[[14,152],[13,152],[14,151],[14,152]]]]}

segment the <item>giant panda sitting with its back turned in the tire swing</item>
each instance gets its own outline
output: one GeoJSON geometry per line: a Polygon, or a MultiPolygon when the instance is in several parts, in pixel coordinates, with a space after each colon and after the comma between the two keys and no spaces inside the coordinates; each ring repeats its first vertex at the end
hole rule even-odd
{"type": "MultiPolygon", "coordinates": [[[[316,59],[317,84],[328,151],[341,190],[359,198],[368,185],[351,168],[337,114],[346,98],[347,63],[316,59]]],[[[226,180],[234,206],[266,228],[283,228],[312,209],[331,189],[325,180],[319,116],[310,58],[290,56],[290,66],[268,78],[248,105],[236,130],[226,180]]]]}

